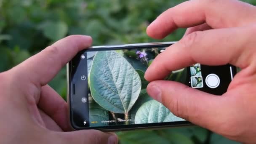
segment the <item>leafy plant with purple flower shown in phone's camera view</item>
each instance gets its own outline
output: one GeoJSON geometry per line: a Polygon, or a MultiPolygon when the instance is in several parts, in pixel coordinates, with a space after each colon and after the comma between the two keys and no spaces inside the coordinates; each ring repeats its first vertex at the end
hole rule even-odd
{"type": "MultiPolygon", "coordinates": [[[[88,64],[91,65],[88,80],[93,99],[90,104],[92,119],[115,120],[116,124],[123,121],[125,124],[139,124],[183,120],[147,94],[148,82],[144,79],[148,67],[146,56],[145,50],[99,51],[88,59],[91,62],[88,64]]],[[[155,56],[153,54],[152,59],[155,56]]],[[[172,77],[181,78],[182,72],[172,77]]]]}

